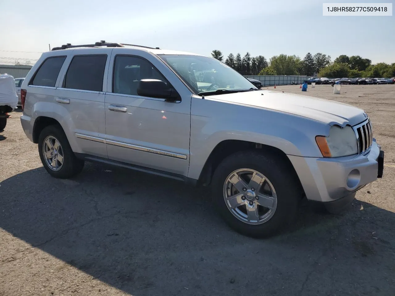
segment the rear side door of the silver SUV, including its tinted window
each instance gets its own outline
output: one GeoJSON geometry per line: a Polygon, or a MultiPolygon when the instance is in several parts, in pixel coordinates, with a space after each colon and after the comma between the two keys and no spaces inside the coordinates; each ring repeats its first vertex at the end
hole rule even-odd
{"type": "Polygon", "coordinates": [[[55,101],[71,116],[72,133],[83,154],[107,158],[104,96],[110,48],[84,49],[67,57],[55,101]]]}

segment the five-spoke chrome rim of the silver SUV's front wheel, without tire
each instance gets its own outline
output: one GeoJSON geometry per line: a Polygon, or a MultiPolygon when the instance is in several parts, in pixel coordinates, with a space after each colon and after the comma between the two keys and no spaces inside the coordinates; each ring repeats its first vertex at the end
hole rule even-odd
{"type": "Polygon", "coordinates": [[[226,178],[223,192],[229,211],[245,223],[265,223],[276,211],[276,191],[271,182],[256,170],[235,170],[226,178]]]}

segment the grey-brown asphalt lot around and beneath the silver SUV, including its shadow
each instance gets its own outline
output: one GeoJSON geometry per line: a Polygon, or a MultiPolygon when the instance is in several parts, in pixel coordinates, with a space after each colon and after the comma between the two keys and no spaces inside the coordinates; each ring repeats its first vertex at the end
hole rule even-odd
{"type": "Polygon", "coordinates": [[[369,114],[384,177],[348,211],[307,204],[288,232],[247,238],[204,188],[89,163],[51,178],[13,112],[0,132],[0,295],[394,295],[395,85],[275,90],[369,114]]]}

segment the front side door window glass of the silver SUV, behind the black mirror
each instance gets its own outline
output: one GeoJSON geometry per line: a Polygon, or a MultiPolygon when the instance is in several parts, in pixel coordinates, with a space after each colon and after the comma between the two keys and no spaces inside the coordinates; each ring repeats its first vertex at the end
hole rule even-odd
{"type": "Polygon", "coordinates": [[[137,94],[137,84],[141,79],[159,79],[169,82],[149,61],[137,56],[116,56],[113,74],[113,93],[137,94]]]}

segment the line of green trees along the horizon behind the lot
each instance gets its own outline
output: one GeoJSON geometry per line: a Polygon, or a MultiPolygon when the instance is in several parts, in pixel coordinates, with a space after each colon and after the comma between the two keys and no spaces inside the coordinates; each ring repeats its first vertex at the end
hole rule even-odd
{"type": "Polygon", "coordinates": [[[220,60],[232,67],[242,75],[307,75],[318,73],[320,77],[394,77],[395,63],[372,64],[372,61],[361,56],[347,56],[342,54],[331,61],[331,56],[318,52],[310,52],[301,59],[296,55],[279,54],[267,62],[264,56],[251,57],[247,52],[243,57],[240,53],[236,56],[230,53],[224,60],[220,50],[211,52],[213,58],[220,60]]]}

